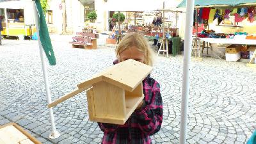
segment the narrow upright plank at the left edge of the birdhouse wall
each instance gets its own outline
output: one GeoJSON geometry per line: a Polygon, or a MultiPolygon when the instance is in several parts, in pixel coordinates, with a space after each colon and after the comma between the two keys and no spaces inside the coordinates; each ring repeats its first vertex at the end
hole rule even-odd
{"type": "Polygon", "coordinates": [[[93,88],[90,88],[86,92],[89,120],[93,120],[95,116],[94,99],[93,99],[93,88]]]}

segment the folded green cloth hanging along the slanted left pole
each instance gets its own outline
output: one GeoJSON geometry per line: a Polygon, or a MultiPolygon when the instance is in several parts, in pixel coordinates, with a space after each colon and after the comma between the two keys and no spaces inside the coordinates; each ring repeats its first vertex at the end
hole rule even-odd
{"type": "Polygon", "coordinates": [[[52,49],[51,38],[49,36],[47,24],[44,18],[44,12],[40,0],[36,0],[36,9],[38,11],[39,40],[43,46],[44,52],[49,60],[50,65],[56,65],[56,59],[52,49]]]}

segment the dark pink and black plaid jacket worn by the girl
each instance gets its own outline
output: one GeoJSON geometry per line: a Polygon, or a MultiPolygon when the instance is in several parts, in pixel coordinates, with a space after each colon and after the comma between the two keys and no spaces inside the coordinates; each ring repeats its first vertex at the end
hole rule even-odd
{"type": "MultiPolygon", "coordinates": [[[[118,63],[114,61],[114,64],[118,63]]],[[[160,86],[147,76],[143,80],[144,102],[136,109],[124,125],[98,123],[104,132],[103,144],[149,144],[150,135],[161,128],[163,121],[163,101],[160,86]]]]}

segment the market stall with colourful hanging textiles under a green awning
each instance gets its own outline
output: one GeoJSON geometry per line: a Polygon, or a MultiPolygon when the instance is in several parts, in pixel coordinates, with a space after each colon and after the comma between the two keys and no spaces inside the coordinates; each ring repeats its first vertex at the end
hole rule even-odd
{"type": "MultiPolygon", "coordinates": [[[[186,5],[185,3],[186,1],[182,1],[179,7],[186,5]]],[[[200,56],[200,50],[203,52],[205,44],[208,45],[208,43],[211,48],[216,44],[255,45],[256,33],[253,31],[256,28],[256,9],[253,7],[255,5],[256,1],[251,0],[211,1],[209,3],[195,1],[194,26],[196,31],[193,49],[198,52],[198,56],[200,56]],[[198,31],[198,24],[201,23],[201,26],[208,26],[207,30],[198,31]]]]}

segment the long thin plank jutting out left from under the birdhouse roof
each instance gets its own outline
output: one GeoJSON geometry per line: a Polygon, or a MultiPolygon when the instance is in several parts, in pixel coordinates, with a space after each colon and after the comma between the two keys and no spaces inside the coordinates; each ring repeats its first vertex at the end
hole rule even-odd
{"type": "Polygon", "coordinates": [[[87,90],[88,88],[91,88],[91,87],[92,87],[92,85],[88,85],[88,86],[83,87],[83,88],[76,88],[72,92],[63,95],[62,97],[60,97],[57,100],[54,100],[54,102],[51,102],[51,104],[48,104],[47,107],[52,108],[52,107],[56,106],[57,104],[60,104],[61,102],[65,101],[67,99],[70,99],[71,97],[74,97],[78,93],[81,93],[84,90],[87,90]]]}

